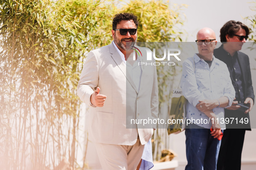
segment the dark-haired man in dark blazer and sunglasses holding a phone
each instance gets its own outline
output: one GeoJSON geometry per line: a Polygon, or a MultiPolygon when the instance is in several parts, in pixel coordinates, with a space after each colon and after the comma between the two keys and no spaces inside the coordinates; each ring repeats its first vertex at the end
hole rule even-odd
{"type": "Polygon", "coordinates": [[[214,56],[227,64],[236,91],[236,98],[232,106],[225,109],[225,118],[229,119],[230,123],[224,130],[217,170],[241,169],[245,130],[250,130],[249,111],[252,110],[254,103],[250,62],[249,57],[239,51],[248,35],[249,28],[246,25],[231,20],[220,29],[222,45],[214,50],[214,56]],[[237,104],[247,105],[249,109],[242,110],[241,106],[237,104]],[[231,120],[234,121],[231,123],[231,120]],[[242,123],[246,120],[249,120],[249,123],[242,123]]]}

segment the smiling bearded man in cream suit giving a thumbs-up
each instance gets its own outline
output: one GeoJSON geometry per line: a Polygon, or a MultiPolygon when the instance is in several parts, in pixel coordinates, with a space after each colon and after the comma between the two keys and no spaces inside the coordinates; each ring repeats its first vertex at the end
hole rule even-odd
{"type": "Polygon", "coordinates": [[[156,67],[139,65],[146,51],[139,48],[139,56],[132,49],[137,26],[133,14],[117,14],[113,42],[88,54],[78,83],[78,96],[91,105],[89,139],[104,170],[136,169],[153,128],[130,120],[156,119],[158,114],[156,67]]]}

